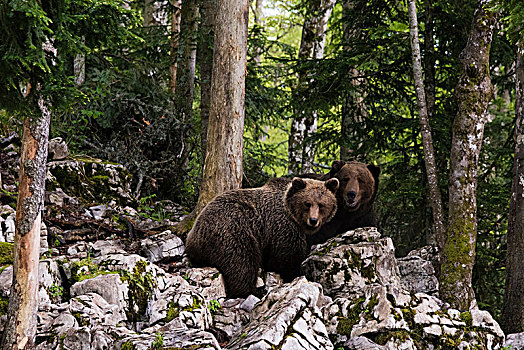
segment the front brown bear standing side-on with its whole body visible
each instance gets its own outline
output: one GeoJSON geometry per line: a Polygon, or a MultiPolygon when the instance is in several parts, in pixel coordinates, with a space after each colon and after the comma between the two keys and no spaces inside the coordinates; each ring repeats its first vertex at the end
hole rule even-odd
{"type": "Polygon", "coordinates": [[[337,179],[294,178],[220,194],[197,217],[186,253],[193,265],[222,273],[230,298],[256,293],[259,268],[289,282],[302,274],[306,236],[335,215],[337,189],[337,179]]]}

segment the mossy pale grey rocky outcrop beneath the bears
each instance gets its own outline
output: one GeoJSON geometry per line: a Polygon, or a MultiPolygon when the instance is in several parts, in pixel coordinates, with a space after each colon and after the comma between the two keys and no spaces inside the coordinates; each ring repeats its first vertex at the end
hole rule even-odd
{"type": "MultiPolygon", "coordinates": [[[[261,299],[227,299],[220,273],[191,267],[169,229],[183,215],[180,207],[132,203],[125,168],[64,158],[59,140],[56,146],[62,160],[49,163],[37,349],[503,346],[504,334],[488,312],[455,310],[438,299],[432,248],[396,259],[391,239],[374,228],[315,246],[303,263],[305,276],[291,283],[261,274],[261,299]]],[[[5,179],[5,169],[1,174],[5,179]]],[[[2,193],[13,184],[4,181],[2,193]]],[[[0,242],[9,247],[15,212],[12,199],[2,203],[0,242]]],[[[12,267],[0,266],[4,303],[11,281],[12,267]]],[[[509,335],[506,345],[518,349],[522,339],[509,335]]]]}

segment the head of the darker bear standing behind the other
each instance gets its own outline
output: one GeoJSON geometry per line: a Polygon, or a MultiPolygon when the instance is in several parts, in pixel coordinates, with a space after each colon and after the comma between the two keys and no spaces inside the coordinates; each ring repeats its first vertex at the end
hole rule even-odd
{"type": "Polygon", "coordinates": [[[339,209],[355,212],[373,204],[378,190],[380,168],[361,162],[335,160],[329,171],[329,178],[339,181],[337,199],[339,209]]]}

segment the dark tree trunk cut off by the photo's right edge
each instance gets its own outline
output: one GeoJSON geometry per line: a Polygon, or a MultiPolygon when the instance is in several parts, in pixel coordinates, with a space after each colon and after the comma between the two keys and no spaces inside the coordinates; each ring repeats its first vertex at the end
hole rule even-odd
{"type": "Polygon", "coordinates": [[[517,50],[516,77],[516,143],[508,217],[506,292],[501,320],[506,334],[524,331],[524,43],[517,50]]]}

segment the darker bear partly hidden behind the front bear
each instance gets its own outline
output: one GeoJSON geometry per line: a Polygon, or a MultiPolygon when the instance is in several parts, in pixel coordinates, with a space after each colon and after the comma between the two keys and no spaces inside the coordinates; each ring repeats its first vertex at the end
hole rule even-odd
{"type": "Polygon", "coordinates": [[[329,173],[307,174],[304,177],[318,180],[338,179],[338,209],[335,217],[320,231],[308,237],[309,245],[319,244],[329,238],[358,227],[377,226],[374,202],[378,190],[380,168],[361,162],[335,160],[329,173]]]}

